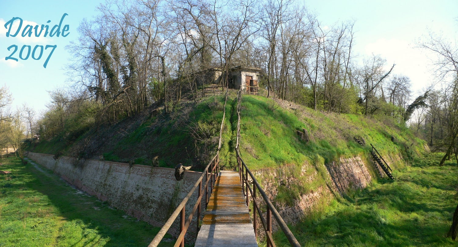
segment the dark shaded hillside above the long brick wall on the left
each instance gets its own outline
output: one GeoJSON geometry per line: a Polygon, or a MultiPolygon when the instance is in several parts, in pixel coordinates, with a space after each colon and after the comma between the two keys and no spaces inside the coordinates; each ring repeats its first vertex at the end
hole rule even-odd
{"type": "Polygon", "coordinates": [[[104,159],[139,165],[174,167],[194,165],[198,170],[213,157],[223,117],[224,97],[175,105],[124,119],[111,126],[96,126],[71,142],[55,137],[33,144],[33,152],[104,159]]]}

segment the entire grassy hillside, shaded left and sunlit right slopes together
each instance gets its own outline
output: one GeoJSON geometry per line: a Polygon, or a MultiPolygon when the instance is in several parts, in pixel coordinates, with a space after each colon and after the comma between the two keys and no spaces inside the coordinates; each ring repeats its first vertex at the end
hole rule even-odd
{"type": "MultiPolygon", "coordinates": [[[[198,103],[183,102],[168,114],[159,109],[111,126],[93,127],[78,137],[70,135],[71,139],[59,135],[33,144],[31,150],[125,163],[133,161],[140,165],[153,165],[153,158],[158,156],[159,166],[174,167],[182,163],[198,170],[216,152],[223,105],[223,96],[207,97],[198,103]]],[[[235,167],[236,106],[235,91],[231,91],[221,150],[227,169],[235,167]]],[[[403,159],[412,160],[414,149],[422,144],[407,128],[388,120],[322,114],[297,105],[283,108],[278,102],[260,96],[243,96],[241,117],[241,152],[246,164],[254,170],[316,161],[328,163],[341,156],[365,155],[370,149],[369,143],[373,143],[385,159],[392,157],[393,166],[400,168],[404,162],[399,154],[403,159]],[[310,135],[308,143],[300,141],[296,133],[303,128],[310,135]],[[364,138],[366,145],[361,147],[354,137],[364,138]]]]}

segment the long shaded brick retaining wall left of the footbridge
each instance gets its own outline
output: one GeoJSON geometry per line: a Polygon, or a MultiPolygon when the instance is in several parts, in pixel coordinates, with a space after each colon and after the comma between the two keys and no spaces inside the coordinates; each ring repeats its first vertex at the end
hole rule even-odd
{"type": "MultiPolygon", "coordinates": [[[[184,179],[176,181],[174,169],[152,167],[147,165],[102,161],[77,160],[62,156],[57,160],[52,154],[29,152],[27,157],[60,175],[65,181],[78,189],[107,201],[117,209],[151,225],[161,226],[169,218],[191,187],[201,176],[201,172],[185,171],[184,179]]],[[[197,199],[197,190],[186,204],[186,219],[197,199]]],[[[205,200],[205,197],[203,198],[205,200]]],[[[202,203],[202,212],[205,206],[202,203]]],[[[179,218],[169,230],[178,236],[179,218]]],[[[194,242],[196,232],[196,215],[186,234],[186,239],[194,242]]]]}

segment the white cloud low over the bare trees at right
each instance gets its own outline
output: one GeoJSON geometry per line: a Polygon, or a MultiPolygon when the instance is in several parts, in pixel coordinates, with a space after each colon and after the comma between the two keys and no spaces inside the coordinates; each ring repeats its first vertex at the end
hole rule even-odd
{"type": "Polygon", "coordinates": [[[433,81],[431,60],[424,50],[406,40],[381,38],[365,46],[365,54],[380,54],[387,60],[386,70],[394,64],[393,74],[408,76],[413,91],[426,88],[433,81]]]}

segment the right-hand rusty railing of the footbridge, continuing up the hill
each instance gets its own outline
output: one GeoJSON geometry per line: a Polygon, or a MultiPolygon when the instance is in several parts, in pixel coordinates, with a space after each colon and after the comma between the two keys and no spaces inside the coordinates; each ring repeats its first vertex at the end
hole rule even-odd
{"type": "Polygon", "coordinates": [[[255,236],[257,238],[257,215],[259,215],[259,219],[261,220],[262,223],[262,228],[264,229],[266,233],[266,242],[267,242],[267,247],[275,247],[275,242],[273,241],[272,238],[272,215],[274,219],[277,221],[278,225],[280,226],[281,230],[284,232],[284,235],[288,239],[288,242],[291,246],[293,247],[300,247],[299,242],[297,239],[294,237],[293,233],[289,230],[288,225],[284,222],[280,214],[278,214],[277,209],[273,206],[272,202],[268,198],[266,192],[262,189],[261,185],[258,183],[256,180],[255,176],[251,173],[250,169],[245,165],[245,162],[243,159],[240,157],[240,149],[239,149],[239,143],[240,143],[240,102],[241,102],[241,90],[237,93],[237,115],[238,115],[238,122],[237,122],[237,142],[236,142],[236,157],[237,157],[237,165],[239,167],[239,176],[240,176],[240,182],[242,184],[242,189],[245,193],[245,199],[246,199],[246,205],[249,206],[250,204],[250,196],[251,196],[251,201],[253,202],[253,228],[255,231],[255,236]],[[251,178],[252,181],[252,186],[249,181],[251,178]],[[259,191],[261,193],[262,199],[267,205],[267,214],[266,218],[264,218],[259,202],[256,199],[256,191],[259,191]],[[250,196],[248,194],[250,192],[250,196]]]}

